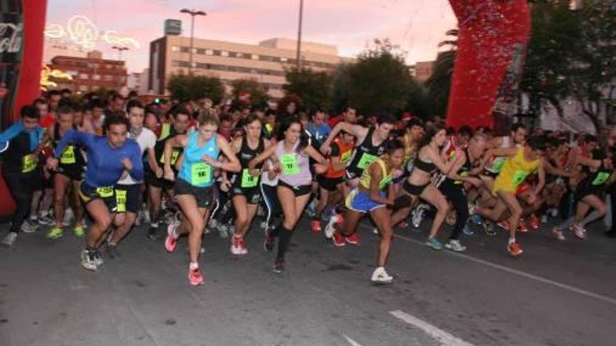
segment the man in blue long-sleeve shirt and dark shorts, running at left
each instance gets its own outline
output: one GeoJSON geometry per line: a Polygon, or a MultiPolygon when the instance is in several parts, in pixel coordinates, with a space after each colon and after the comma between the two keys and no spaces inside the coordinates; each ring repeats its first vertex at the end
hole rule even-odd
{"type": "Polygon", "coordinates": [[[130,173],[132,178],[144,178],[144,164],[141,149],[137,142],[127,139],[128,120],[123,113],[106,117],[104,129],[106,136],[94,136],[80,131],[68,131],[62,137],[47,164],[51,169],[57,167],[64,147],[75,143],[85,147],[87,164],[85,179],[80,185],[79,196],[85,203],[94,224],[85,240],[85,250],[81,252],[81,266],[95,271],[102,264],[99,246],[116,212],[116,193],[113,186],[123,176],[130,173]]]}

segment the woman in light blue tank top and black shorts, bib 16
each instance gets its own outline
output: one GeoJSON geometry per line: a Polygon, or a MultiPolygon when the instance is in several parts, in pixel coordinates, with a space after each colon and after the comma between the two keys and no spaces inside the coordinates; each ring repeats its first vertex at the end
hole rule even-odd
{"type": "Polygon", "coordinates": [[[188,281],[193,285],[204,283],[199,269],[198,259],[201,250],[201,238],[204,220],[214,200],[214,170],[238,172],[239,160],[229,143],[222,136],[217,136],[218,118],[213,110],[206,110],[197,118],[199,126],[188,135],[170,138],[165,143],[165,179],[175,180],[174,194],[182,210],[181,224],[169,224],[165,248],[173,252],[180,236],[188,235],[188,252],[190,265],[188,281]],[[183,161],[178,177],[175,179],[171,167],[172,150],[183,147],[183,161]],[[223,152],[226,162],[218,161],[218,154],[223,152]]]}

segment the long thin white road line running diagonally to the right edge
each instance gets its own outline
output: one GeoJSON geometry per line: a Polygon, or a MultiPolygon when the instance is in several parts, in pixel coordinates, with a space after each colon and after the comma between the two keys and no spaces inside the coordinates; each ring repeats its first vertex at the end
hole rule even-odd
{"type": "MultiPolygon", "coordinates": [[[[364,228],[364,229],[369,229],[370,231],[372,231],[372,227],[370,227],[370,226],[368,226],[366,224],[359,224],[359,226],[364,228]]],[[[395,238],[400,238],[402,240],[406,240],[409,243],[415,243],[415,244],[424,246],[423,242],[421,242],[419,240],[412,239],[412,238],[408,238],[406,236],[400,236],[400,234],[398,234],[398,233],[395,233],[395,238]]],[[[557,282],[557,281],[554,281],[554,280],[547,279],[545,277],[540,277],[538,275],[533,275],[533,274],[530,274],[530,273],[526,273],[524,271],[518,271],[516,269],[509,268],[509,267],[506,267],[506,266],[501,266],[500,264],[492,263],[492,262],[486,261],[484,259],[478,259],[477,257],[472,257],[472,256],[469,256],[468,254],[461,254],[459,252],[453,252],[453,251],[447,251],[446,253],[450,254],[451,256],[467,259],[468,261],[472,261],[472,262],[475,262],[475,263],[478,263],[478,264],[483,264],[484,266],[489,266],[491,268],[499,269],[500,271],[506,271],[507,273],[512,273],[512,274],[515,274],[515,275],[519,275],[521,277],[526,277],[528,279],[535,280],[535,281],[538,281],[538,282],[542,282],[544,284],[550,284],[552,286],[559,287],[561,289],[566,289],[567,291],[572,291],[572,292],[575,292],[577,294],[582,294],[582,296],[587,296],[589,298],[595,298],[595,299],[597,299],[599,301],[604,301],[605,303],[610,303],[610,304],[616,305],[616,299],[615,298],[610,298],[608,296],[602,296],[601,294],[596,294],[594,292],[587,291],[585,289],[580,289],[580,288],[577,288],[577,287],[570,286],[568,284],[563,284],[562,282],[557,282]]]]}

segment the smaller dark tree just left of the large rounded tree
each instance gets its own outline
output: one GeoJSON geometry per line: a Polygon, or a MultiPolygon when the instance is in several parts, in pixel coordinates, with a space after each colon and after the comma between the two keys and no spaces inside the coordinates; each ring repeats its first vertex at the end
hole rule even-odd
{"type": "MultiPolygon", "coordinates": [[[[283,89],[302,101],[307,110],[328,108],[332,90],[332,76],[327,72],[292,68],[286,71],[286,84],[283,89]]],[[[299,106],[299,105],[298,105],[299,106]]]]}

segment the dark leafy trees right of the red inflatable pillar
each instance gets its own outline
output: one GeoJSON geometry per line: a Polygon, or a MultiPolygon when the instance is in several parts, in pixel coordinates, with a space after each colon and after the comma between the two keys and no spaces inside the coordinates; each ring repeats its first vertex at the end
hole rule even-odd
{"type": "Polygon", "coordinates": [[[570,1],[537,1],[521,89],[531,111],[575,99],[598,127],[598,110],[610,108],[603,92],[616,78],[616,12],[613,2],[595,0],[572,10],[570,1]]]}

